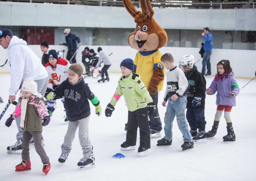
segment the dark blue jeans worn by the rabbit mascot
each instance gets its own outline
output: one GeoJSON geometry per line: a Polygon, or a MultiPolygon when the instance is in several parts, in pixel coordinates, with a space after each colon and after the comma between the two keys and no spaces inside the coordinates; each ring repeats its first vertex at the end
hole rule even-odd
{"type": "Polygon", "coordinates": [[[149,118],[149,128],[154,129],[156,131],[162,130],[162,122],[158,113],[157,103],[158,103],[158,92],[156,94],[152,95],[150,94],[151,98],[153,99],[153,102],[156,103],[156,111],[153,114],[148,114],[149,118]]]}

